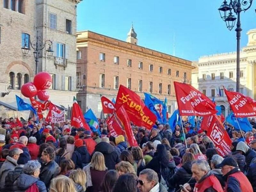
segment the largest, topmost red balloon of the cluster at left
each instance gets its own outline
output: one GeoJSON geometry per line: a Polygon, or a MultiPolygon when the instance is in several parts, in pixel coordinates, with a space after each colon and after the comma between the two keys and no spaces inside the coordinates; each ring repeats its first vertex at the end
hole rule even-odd
{"type": "Polygon", "coordinates": [[[34,84],[38,90],[49,89],[52,86],[52,76],[47,72],[37,73],[34,77],[34,84]]]}

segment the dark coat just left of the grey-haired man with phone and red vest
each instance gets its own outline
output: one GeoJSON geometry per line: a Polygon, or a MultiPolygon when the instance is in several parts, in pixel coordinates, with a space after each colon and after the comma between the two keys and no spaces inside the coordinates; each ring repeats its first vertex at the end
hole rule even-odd
{"type": "MultiPolygon", "coordinates": [[[[191,162],[187,162],[178,169],[174,175],[169,179],[169,185],[175,188],[175,191],[180,192],[180,185],[187,183],[192,177],[191,162]]],[[[189,184],[195,184],[196,180],[192,179],[189,184]]]]}

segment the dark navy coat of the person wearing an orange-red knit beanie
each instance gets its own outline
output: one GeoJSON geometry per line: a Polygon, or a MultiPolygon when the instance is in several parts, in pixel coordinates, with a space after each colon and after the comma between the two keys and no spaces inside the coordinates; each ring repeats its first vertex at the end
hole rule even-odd
{"type": "Polygon", "coordinates": [[[81,146],[75,149],[71,159],[76,165],[76,169],[82,169],[90,162],[90,154],[88,153],[85,146],[81,146]]]}

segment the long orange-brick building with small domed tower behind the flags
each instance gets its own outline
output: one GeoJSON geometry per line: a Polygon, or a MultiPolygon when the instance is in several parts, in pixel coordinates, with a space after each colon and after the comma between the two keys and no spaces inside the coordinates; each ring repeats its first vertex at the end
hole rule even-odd
{"type": "Polygon", "coordinates": [[[83,111],[101,114],[100,97],[115,98],[120,84],[144,98],[143,92],[168,99],[177,108],[173,81],[191,82],[191,61],[137,45],[133,27],[127,42],[91,31],[77,32],[77,100],[83,111]]]}

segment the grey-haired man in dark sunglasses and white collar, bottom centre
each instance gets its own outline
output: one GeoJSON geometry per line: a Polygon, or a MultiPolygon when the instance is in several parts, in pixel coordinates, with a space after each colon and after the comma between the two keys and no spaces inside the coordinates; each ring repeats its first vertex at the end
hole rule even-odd
{"type": "Polygon", "coordinates": [[[140,192],[167,192],[167,189],[158,182],[157,173],[152,169],[144,169],[137,180],[140,192]]]}

